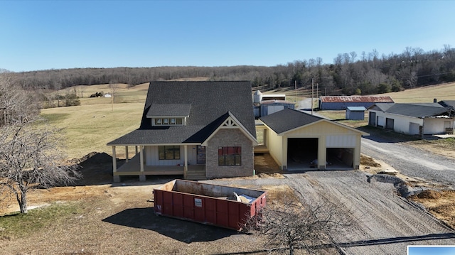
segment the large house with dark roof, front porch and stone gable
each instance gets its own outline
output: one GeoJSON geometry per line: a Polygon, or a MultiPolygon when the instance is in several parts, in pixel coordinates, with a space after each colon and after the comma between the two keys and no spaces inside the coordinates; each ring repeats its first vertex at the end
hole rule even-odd
{"type": "Polygon", "coordinates": [[[151,82],[141,126],[114,141],[114,181],[122,175],[186,179],[254,174],[257,145],[250,82],[151,82]],[[116,146],[136,156],[117,169],[116,146]],[[138,150],[139,148],[139,150],[138,150]]]}

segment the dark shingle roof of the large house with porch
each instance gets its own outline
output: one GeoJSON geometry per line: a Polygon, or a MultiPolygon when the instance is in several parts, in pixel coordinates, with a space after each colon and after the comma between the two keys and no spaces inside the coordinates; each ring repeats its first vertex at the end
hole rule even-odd
{"type": "Polygon", "coordinates": [[[250,82],[150,82],[139,129],[107,145],[202,143],[229,116],[256,137],[250,82]],[[189,110],[186,125],[152,126],[147,116],[160,116],[159,110],[161,116],[189,110]]]}

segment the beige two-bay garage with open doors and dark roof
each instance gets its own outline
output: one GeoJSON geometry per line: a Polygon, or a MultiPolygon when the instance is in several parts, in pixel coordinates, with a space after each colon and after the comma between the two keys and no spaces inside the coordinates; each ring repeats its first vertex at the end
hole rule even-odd
{"type": "Polygon", "coordinates": [[[284,170],[358,169],[361,137],[369,135],[295,109],[259,120],[264,124],[264,145],[284,170]]]}

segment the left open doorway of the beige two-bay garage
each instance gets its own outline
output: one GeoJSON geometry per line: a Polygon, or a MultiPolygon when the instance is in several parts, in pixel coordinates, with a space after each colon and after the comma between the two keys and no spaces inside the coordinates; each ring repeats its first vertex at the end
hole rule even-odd
{"type": "Polygon", "coordinates": [[[287,141],[287,169],[314,168],[311,162],[318,158],[317,138],[289,138],[287,141]]]}

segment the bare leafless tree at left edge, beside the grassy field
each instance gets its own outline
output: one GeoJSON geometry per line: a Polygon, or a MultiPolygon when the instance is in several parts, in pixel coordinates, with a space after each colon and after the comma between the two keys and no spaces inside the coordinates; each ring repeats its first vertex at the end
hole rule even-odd
{"type": "Polygon", "coordinates": [[[0,132],[0,188],[13,194],[21,213],[34,188],[64,185],[80,177],[77,165],[65,165],[58,131],[40,121],[3,126],[0,132]]]}

